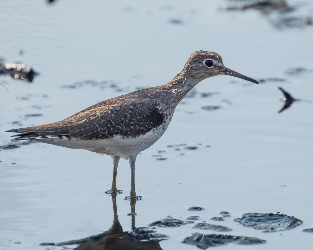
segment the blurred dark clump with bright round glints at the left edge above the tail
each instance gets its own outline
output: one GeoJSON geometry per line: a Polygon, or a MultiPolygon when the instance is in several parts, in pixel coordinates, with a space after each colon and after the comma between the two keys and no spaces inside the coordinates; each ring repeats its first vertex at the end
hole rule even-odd
{"type": "Polygon", "coordinates": [[[29,66],[22,63],[4,63],[0,65],[0,75],[5,74],[7,78],[22,80],[23,83],[33,82],[33,78],[37,73],[29,66]]]}

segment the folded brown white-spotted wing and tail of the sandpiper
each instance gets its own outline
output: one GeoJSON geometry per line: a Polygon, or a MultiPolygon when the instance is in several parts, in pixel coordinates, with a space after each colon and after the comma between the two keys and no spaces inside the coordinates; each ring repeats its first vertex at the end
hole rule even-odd
{"type": "Polygon", "coordinates": [[[20,132],[17,139],[39,136],[65,136],[79,140],[104,139],[121,135],[135,138],[160,126],[164,121],[154,99],[110,99],[86,108],[56,123],[8,130],[20,132]]]}

